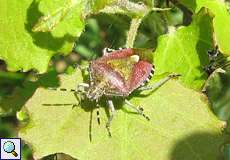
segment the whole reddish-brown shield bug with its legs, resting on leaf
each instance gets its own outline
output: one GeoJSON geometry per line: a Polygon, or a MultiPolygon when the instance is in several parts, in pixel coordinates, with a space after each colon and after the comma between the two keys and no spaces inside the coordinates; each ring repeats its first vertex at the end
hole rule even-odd
{"type": "MultiPolygon", "coordinates": [[[[104,49],[103,56],[93,60],[89,63],[89,83],[81,83],[73,92],[83,94],[91,101],[98,101],[102,96],[107,99],[107,104],[111,111],[111,115],[106,123],[106,128],[110,133],[110,125],[116,113],[112,97],[122,97],[124,102],[140,115],[150,120],[148,116],[143,113],[141,107],[136,107],[130,103],[128,97],[134,90],[154,90],[168,81],[172,77],[178,76],[177,74],[170,74],[164,79],[160,80],[154,85],[146,85],[146,82],[153,76],[154,66],[151,62],[150,54],[146,54],[143,50],[126,48],[119,50],[104,49]],[[81,89],[80,89],[81,88],[81,89]],[[83,90],[82,90],[83,89],[83,90]]],[[[67,91],[63,88],[60,90],[67,91]]],[[[99,121],[99,112],[98,123],[99,121]]]]}

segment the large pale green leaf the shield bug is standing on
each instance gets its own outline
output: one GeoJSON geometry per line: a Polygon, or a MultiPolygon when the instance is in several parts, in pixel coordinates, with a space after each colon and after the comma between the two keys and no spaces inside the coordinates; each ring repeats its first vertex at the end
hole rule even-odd
{"type": "MultiPolygon", "coordinates": [[[[60,87],[75,88],[82,82],[80,75],[79,71],[62,75],[60,87]]],[[[223,123],[211,113],[202,94],[171,80],[151,94],[135,94],[131,102],[142,105],[151,120],[117,102],[110,138],[105,128],[107,106],[100,108],[98,125],[95,103],[84,101],[73,108],[67,104],[79,102],[72,93],[39,88],[25,104],[30,121],[19,137],[30,144],[35,159],[53,153],[91,160],[215,160],[219,155],[223,123]]]]}

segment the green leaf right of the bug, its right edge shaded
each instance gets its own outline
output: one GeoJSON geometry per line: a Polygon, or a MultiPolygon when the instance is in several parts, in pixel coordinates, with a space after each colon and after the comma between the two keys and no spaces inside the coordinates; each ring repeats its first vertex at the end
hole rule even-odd
{"type": "Polygon", "coordinates": [[[200,89],[207,79],[203,68],[212,49],[212,18],[205,10],[193,17],[192,23],[160,36],[155,51],[156,74],[175,72],[188,87],[200,89]]]}

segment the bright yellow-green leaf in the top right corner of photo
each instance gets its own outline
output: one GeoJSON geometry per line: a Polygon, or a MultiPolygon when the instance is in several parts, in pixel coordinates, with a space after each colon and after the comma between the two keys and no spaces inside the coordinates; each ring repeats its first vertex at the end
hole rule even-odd
{"type": "Polygon", "coordinates": [[[202,7],[208,8],[214,14],[214,36],[219,49],[223,54],[230,55],[230,14],[227,4],[221,0],[180,0],[182,4],[197,13],[202,7]]]}

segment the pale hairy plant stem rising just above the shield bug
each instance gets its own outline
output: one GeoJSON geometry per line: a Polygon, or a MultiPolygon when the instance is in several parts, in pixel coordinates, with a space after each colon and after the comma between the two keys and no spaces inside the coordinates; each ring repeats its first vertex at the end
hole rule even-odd
{"type": "Polygon", "coordinates": [[[138,28],[141,24],[142,18],[133,18],[130,24],[129,32],[126,39],[126,47],[133,48],[134,41],[136,39],[138,28]]]}

